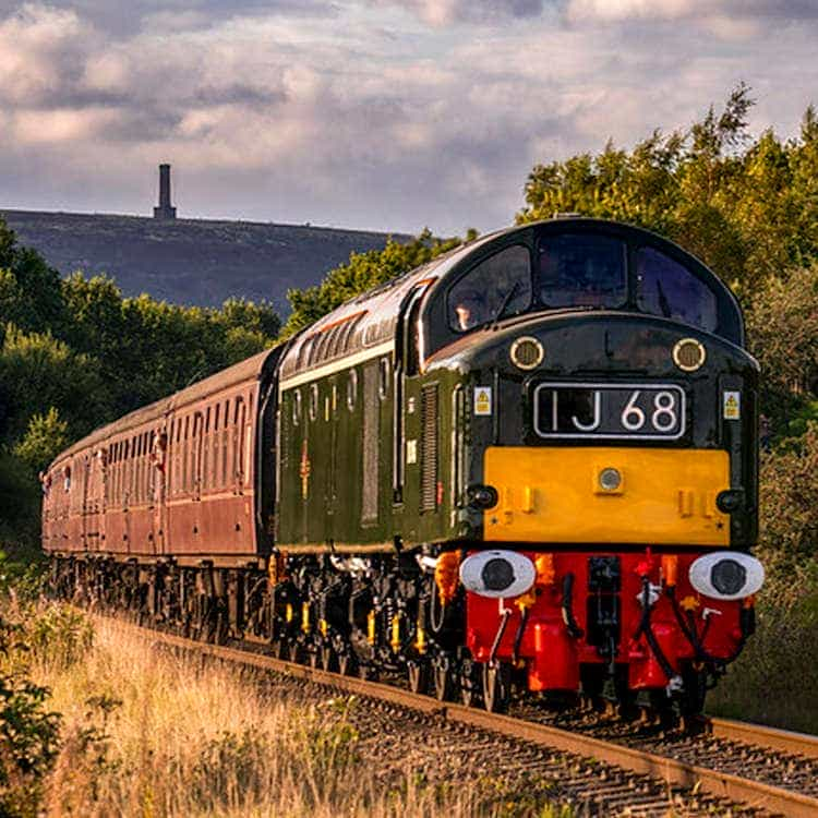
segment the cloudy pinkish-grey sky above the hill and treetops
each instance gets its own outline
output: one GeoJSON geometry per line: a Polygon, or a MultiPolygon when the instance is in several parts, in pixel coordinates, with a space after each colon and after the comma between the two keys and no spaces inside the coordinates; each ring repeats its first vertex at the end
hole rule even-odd
{"type": "Polygon", "coordinates": [[[0,0],[0,209],[437,234],[538,163],[818,104],[818,0],[0,0]]]}

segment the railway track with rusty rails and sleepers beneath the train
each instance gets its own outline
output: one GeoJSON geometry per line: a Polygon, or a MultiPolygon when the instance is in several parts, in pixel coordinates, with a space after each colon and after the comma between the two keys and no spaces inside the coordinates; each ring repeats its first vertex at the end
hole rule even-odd
{"type": "Polygon", "coordinates": [[[691,736],[590,717],[552,717],[532,707],[501,715],[284,661],[243,646],[137,629],[173,649],[340,690],[396,712],[412,711],[464,732],[478,744],[491,742],[491,736],[503,737],[507,746],[497,762],[524,759],[526,771],[556,775],[569,799],[587,815],[659,816],[674,809],[687,816],[818,816],[818,738],[813,736],[724,719],[710,719],[701,734],[691,736]]]}

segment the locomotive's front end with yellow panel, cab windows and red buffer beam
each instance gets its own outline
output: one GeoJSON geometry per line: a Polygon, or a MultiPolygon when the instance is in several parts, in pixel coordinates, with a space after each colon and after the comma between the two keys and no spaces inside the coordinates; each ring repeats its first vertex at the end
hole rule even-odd
{"type": "Polygon", "coordinates": [[[459,373],[469,412],[437,593],[457,564],[485,703],[518,674],[700,710],[763,581],[758,368],[729,290],[653,234],[570,219],[505,237],[442,308],[425,377],[459,373]]]}

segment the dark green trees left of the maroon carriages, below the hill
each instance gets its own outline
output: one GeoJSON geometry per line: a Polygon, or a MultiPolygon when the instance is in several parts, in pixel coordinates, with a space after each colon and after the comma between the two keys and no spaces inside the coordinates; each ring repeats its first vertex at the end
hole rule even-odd
{"type": "Polygon", "coordinates": [[[123,298],[61,278],[0,220],[0,542],[36,537],[37,471],[95,426],[275,342],[266,303],[123,298]]]}

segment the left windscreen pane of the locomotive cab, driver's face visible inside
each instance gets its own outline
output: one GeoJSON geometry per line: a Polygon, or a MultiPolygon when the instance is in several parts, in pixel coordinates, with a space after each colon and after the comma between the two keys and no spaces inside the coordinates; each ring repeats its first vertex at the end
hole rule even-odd
{"type": "Polygon", "coordinates": [[[462,333],[531,304],[531,256],[518,244],[470,269],[448,291],[448,322],[462,333]]]}

